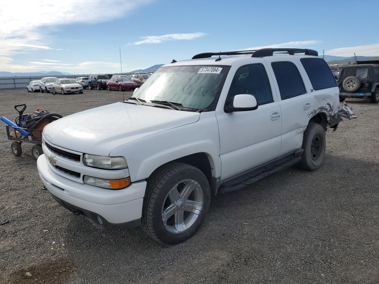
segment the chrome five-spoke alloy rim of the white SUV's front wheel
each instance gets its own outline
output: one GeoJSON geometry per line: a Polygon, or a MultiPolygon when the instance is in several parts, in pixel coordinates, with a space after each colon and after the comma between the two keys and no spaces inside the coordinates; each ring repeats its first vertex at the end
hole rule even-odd
{"type": "Polygon", "coordinates": [[[164,198],[162,222],[172,234],[188,230],[199,218],[204,208],[203,190],[193,179],[177,183],[164,198]]]}

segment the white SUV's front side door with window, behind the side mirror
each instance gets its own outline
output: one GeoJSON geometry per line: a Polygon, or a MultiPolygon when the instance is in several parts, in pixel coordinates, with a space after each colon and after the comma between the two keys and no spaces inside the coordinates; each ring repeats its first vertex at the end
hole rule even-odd
{"type": "MultiPolygon", "coordinates": [[[[230,113],[226,113],[223,108],[216,109],[222,164],[221,180],[277,158],[282,130],[280,106],[263,60],[237,61],[230,68],[224,86],[227,84],[230,87],[226,103],[235,95],[251,94],[257,99],[258,108],[254,111],[230,113]],[[249,62],[251,63],[248,64],[249,62]]],[[[218,105],[224,103],[220,101],[218,105]]]]}

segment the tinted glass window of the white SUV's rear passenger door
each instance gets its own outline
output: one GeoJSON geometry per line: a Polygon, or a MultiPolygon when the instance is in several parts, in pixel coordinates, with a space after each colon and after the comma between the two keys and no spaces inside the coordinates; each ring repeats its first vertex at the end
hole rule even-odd
{"type": "Polygon", "coordinates": [[[305,87],[298,68],[291,62],[273,62],[276,81],[282,100],[305,94],[305,87]]]}

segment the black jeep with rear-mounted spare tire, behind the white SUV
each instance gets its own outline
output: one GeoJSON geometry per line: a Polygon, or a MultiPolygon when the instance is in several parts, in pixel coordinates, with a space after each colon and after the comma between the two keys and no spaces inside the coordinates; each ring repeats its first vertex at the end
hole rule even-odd
{"type": "Polygon", "coordinates": [[[379,60],[357,61],[357,65],[340,69],[338,78],[340,101],[345,98],[370,98],[379,102],[379,60]]]}

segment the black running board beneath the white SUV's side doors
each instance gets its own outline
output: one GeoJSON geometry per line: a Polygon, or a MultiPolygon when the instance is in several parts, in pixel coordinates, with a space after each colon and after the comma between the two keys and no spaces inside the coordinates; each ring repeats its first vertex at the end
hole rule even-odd
{"type": "Polygon", "coordinates": [[[269,175],[272,175],[274,173],[277,173],[287,167],[291,167],[292,165],[295,165],[297,164],[298,162],[301,161],[301,154],[302,154],[302,150],[301,151],[298,151],[295,153],[295,157],[286,161],[286,162],[283,162],[282,164],[280,165],[276,165],[274,166],[272,169],[269,169],[269,170],[264,170],[263,172],[259,173],[258,175],[255,175],[255,176],[252,176],[252,177],[249,177],[248,179],[246,179],[245,181],[242,181],[238,184],[234,184],[233,186],[229,186],[229,187],[224,187],[224,186],[220,186],[219,187],[219,192],[221,193],[229,193],[229,192],[235,192],[237,190],[240,190],[240,189],[243,189],[244,187],[250,185],[250,184],[253,184],[255,183],[256,181],[262,179],[262,178],[265,178],[266,176],[269,176],[269,175]]]}

